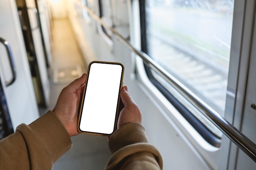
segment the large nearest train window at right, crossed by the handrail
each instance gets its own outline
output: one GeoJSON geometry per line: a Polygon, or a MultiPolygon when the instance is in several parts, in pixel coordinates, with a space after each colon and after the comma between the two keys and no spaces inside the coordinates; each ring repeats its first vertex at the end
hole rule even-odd
{"type": "MultiPolygon", "coordinates": [[[[141,0],[139,3],[141,50],[223,116],[234,0],[141,0]]],[[[160,75],[144,66],[150,81],[195,130],[219,146],[221,132],[160,75]]]]}

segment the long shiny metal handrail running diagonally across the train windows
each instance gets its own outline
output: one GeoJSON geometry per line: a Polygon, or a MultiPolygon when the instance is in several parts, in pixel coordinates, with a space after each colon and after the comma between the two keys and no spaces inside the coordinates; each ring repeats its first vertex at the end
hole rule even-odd
{"type": "Polygon", "coordinates": [[[150,58],[146,53],[136,49],[128,41],[125,40],[117,31],[112,29],[108,24],[106,24],[98,15],[91,11],[88,7],[81,4],[80,1],[76,1],[83,9],[85,9],[94,20],[99,22],[102,26],[106,27],[112,31],[112,33],[122,42],[128,49],[137,54],[144,62],[146,62],[150,68],[162,75],[162,77],[170,83],[177,91],[179,91],[184,97],[190,99],[189,101],[197,106],[197,108],[207,117],[217,128],[219,128],[231,141],[233,141],[241,150],[243,150],[252,160],[256,162],[256,144],[246,137],[242,132],[236,129],[232,124],[230,124],[225,118],[220,116],[215,110],[213,110],[209,105],[207,105],[202,99],[197,97],[192,91],[190,91],[186,86],[179,82],[175,77],[168,73],[164,68],[162,68],[157,62],[150,58]]]}

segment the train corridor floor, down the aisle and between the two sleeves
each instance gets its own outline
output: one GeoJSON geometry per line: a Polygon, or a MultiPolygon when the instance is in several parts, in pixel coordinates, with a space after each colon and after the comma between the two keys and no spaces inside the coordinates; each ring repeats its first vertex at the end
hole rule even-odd
{"type": "MultiPolygon", "coordinates": [[[[61,81],[57,79],[56,81],[56,72],[59,70],[68,72],[70,68],[76,68],[77,66],[81,68],[81,72],[85,72],[87,68],[83,63],[84,60],[79,52],[69,20],[54,20],[52,30],[52,67],[49,71],[51,93],[50,104],[46,110],[54,108],[61,90],[72,82],[72,80],[65,81],[63,79],[61,81]]],[[[76,71],[74,74],[76,74],[76,71]]],[[[43,114],[46,110],[40,109],[40,114],[43,114]]],[[[54,164],[53,170],[103,170],[105,168],[106,162],[110,157],[106,137],[80,134],[71,137],[71,139],[72,148],[58,159],[54,164]]]]}

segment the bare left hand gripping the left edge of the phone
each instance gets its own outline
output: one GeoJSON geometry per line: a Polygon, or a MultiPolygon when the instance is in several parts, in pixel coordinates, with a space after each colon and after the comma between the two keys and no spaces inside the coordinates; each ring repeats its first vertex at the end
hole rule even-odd
{"type": "Polygon", "coordinates": [[[52,110],[67,130],[70,137],[79,135],[77,130],[79,102],[84,91],[86,74],[74,80],[61,91],[52,110]]]}

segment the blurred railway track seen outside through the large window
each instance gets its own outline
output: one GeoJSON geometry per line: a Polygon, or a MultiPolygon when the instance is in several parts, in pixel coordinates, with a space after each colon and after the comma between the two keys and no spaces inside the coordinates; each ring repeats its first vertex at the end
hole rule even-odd
{"type": "Polygon", "coordinates": [[[169,43],[150,36],[149,55],[209,106],[224,113],[227,73],[169,43]]]}

